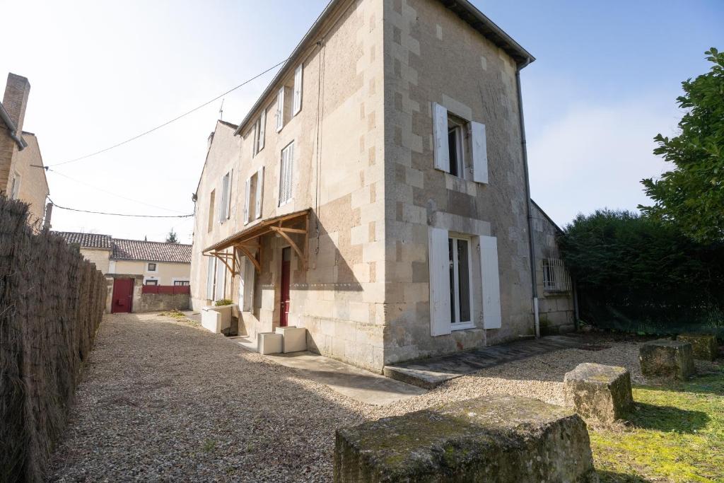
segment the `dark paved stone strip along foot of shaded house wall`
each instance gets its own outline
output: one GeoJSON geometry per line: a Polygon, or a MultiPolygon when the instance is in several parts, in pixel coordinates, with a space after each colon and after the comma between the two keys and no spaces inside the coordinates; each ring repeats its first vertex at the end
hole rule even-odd
{"type": "Polygon", "coordinates": [[[533,340],[452,353],[399,364],[384,366],[383,373],[392,379],[425,389],[434,389],[443,382],[472,374],[487,367],[538,356],[555,350],[581,348],[584,342],[575,335],[552,335],[533,340]]]}

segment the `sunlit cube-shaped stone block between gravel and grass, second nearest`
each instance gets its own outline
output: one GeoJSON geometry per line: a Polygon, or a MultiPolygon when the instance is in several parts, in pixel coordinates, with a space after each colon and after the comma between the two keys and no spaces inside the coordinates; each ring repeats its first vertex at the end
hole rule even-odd
{"type": "Polygon", "coordinates": [[[624,367],[578,364],[563,383],[565,405],[584,419],[610,423],[633,409],[631,374],[624,367]]]}

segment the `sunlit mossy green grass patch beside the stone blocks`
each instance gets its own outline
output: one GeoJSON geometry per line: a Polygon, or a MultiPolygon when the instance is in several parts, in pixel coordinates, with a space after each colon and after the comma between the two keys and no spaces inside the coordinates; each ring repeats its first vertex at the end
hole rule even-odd
{"type": "Polygon", "coordinates": [[[633,387],[627,427],[592,429],[602,482],[724,482],[724,368],[633,387]]]}

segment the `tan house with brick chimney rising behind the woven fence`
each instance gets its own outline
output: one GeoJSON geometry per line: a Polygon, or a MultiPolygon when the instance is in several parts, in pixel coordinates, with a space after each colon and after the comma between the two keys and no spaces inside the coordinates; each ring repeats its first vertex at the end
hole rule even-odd
{"type": "Polygon", "coordinates": [[[30,223],[41,225],[49,195],[38,139],[22,130],[30,83],[8,74],[0,104],[0,192],[30,205],[30,223]]]}

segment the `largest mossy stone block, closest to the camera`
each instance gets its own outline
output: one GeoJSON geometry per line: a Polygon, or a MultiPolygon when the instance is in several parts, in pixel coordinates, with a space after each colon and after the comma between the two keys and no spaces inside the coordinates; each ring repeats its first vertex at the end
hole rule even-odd
{"type": "Polygon", "coordinates": [[[570,409],[487,396],[337,430],[335,482],[598,482],[570,409]]]}

